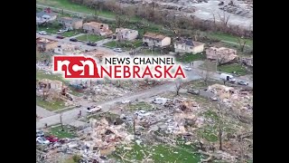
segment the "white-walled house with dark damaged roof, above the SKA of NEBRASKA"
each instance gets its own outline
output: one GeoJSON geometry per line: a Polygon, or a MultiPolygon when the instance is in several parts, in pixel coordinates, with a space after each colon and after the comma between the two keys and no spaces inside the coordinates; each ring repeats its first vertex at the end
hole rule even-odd
{"type": "Polygon", "coordinates": [[[174,43],[175,53],[201,53],[205,43],[193,42],[191,39],[182,39],[174,43]]]}

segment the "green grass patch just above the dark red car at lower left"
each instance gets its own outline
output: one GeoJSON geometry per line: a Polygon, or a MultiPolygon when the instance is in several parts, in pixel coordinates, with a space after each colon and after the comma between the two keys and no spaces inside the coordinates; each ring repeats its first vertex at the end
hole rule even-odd
{"type": "Polygon", "coordinates": [[[71,131],[71,129],[73,129],[72,127],[68,125],[63,125],[63,129],[64,131],[61,131],[61,126],[52,127],[51,129],[49,129],[49,134],[59,139],[76,137],[75,131],[71,131]]]}

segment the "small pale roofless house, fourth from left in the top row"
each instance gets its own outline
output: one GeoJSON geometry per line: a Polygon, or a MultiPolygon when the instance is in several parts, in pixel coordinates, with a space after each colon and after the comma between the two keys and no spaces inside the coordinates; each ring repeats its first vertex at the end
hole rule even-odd
{"type": "Polygon", "coordinates": [[[117,40],[135,40],[138,35],[138,31],[127,29],[127,28],[117,28],[116,29],[116,36],[117,40]]]}

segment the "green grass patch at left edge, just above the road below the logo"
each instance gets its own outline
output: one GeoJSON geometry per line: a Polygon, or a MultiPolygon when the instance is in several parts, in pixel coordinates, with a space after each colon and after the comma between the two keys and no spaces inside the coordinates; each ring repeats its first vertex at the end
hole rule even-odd
{"type": "Polygon", "coordinates": [[[65,108],[64,101],[42,101],[42,97],[38,96],[36,96],[36,105],[51,111],[65,108]]]}

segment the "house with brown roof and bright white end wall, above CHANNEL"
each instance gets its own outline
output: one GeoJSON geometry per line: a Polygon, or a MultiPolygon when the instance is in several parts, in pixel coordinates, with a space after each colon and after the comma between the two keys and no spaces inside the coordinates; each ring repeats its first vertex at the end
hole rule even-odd
{"type": "Polygon", "coordinates": [[[171,44],[171,37],[161,34],[146,33],[143,37],[143,43],[146,46],[164,47],[171,44]]]}

